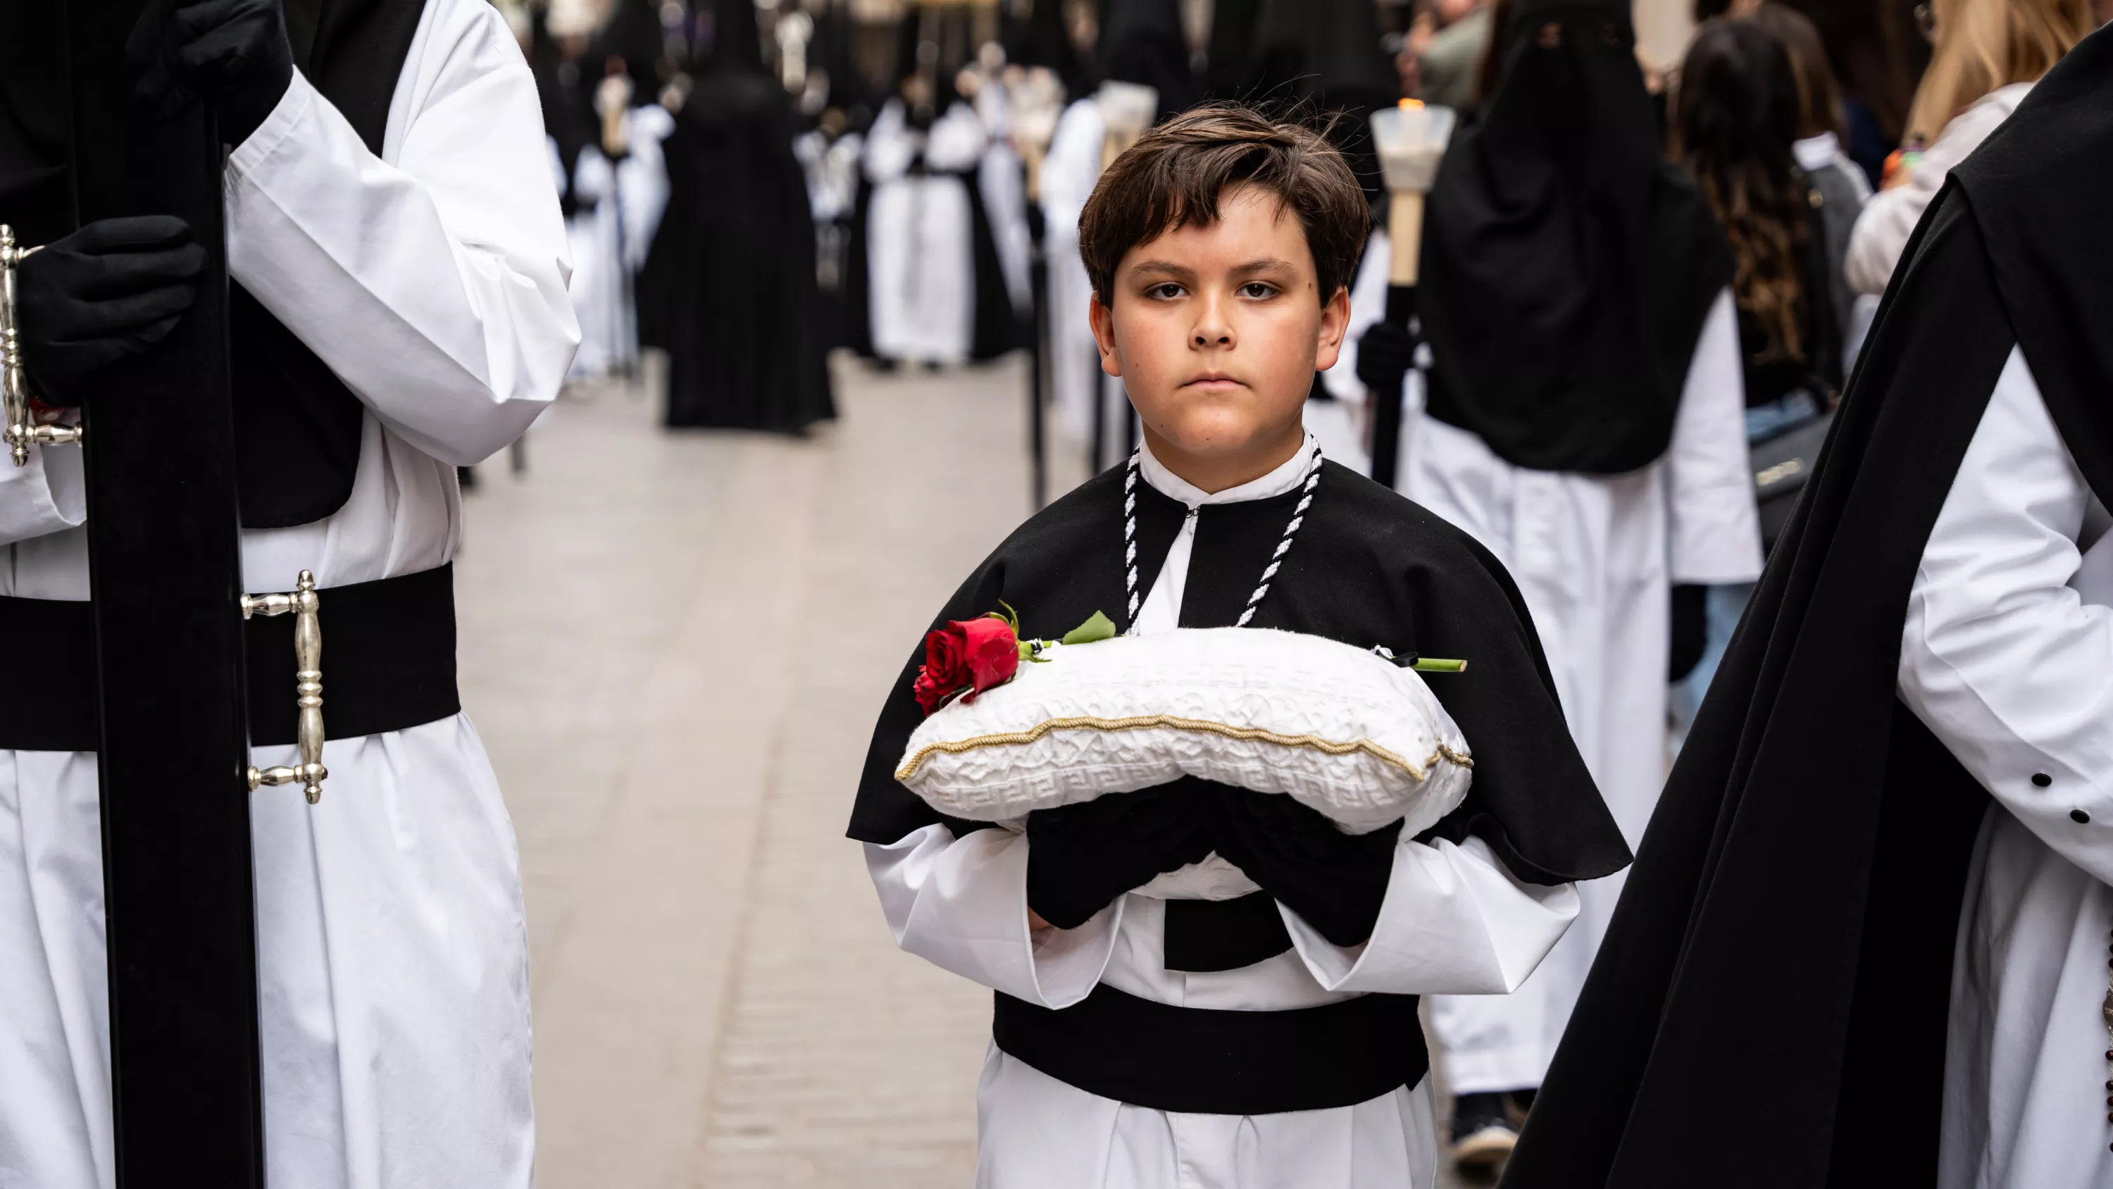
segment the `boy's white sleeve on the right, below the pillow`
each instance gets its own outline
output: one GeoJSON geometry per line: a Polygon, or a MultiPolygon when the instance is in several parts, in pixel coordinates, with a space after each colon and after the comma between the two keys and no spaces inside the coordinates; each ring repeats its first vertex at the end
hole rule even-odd
{"type": "Polygon", "coordinates": [[[1578,893],[1568,883],[1519,883],[1481,838],[1462,847],[1403,838],[1365,944],[1335,946],[1297,912],[1276,910],[1325,990],[1509,995],[1570,929],[1578,893]]]}

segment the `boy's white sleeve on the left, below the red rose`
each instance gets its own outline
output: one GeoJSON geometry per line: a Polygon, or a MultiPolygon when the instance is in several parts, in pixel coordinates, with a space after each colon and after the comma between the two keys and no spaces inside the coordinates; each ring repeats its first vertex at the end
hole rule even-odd
{"type": "Polygon", "coordinates": [[[885,847],[866,843],[866,872],[904,952],[1042,1007],[1084,999],[1122,929],[1118,895],[1078,929],[1029,931],[1027,836],[1012,830],[955,838],[925,826],[885,847]]]}

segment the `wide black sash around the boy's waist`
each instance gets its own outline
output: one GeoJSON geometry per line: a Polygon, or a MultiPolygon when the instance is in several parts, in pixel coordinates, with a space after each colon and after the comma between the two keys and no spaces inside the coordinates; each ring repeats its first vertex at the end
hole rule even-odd
{"type": "Polygon", "coordinates": [[[1431,1069],[1414,995],[1219,1012],[1103,984],[1052,1012],[999,993],[991,1033],[1008,1056],[1088,1094],[1196,1115],[1350,1107],[1431,1069]]]}

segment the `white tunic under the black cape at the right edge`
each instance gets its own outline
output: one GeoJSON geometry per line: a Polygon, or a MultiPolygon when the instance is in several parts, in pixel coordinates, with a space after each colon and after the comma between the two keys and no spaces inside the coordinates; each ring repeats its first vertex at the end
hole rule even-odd
{"type": "Polygon", "coordinates": [[[1900,697],[1995,796],[1959,914],[1938,1185],[2113,1185],[2113,534],[2020,353],[1923,549],[1900,697]]]}

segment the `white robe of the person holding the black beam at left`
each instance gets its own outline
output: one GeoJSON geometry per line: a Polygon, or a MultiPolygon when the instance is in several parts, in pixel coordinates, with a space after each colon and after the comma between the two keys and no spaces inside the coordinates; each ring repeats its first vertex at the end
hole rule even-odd
{"type": "MultiPolygon", "coordinates": [[[[296,76],[228,158],[226,218],[235,279],[366,403],[347,505],[241,541],[251,591],[315,570],[328,644],[328,587],[448,562],[454,465],[520,435],[579,340],[535,80],[501,15],[425,6],[380,158],[296,76]]],[[[0,593],[87,598],[85,515],[78,450],[0,467],[0,593]]],[[[321,805],[249,803],[266,1176],[526,1189],[520,864],[478,733],[456,714],[332,739],[323,760],[321,805]]],[[[114,1183],[99,855],[95,756],[0,752],[8,1189],[114,1183]]]]}

